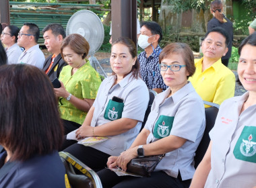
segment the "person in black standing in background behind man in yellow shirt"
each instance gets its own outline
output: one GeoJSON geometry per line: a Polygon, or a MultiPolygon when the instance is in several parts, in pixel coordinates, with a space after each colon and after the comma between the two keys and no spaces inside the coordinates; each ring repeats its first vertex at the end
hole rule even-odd
{"type": "Polygon", "coordinates": [[[232,51],[232,40],[233,40],[233,23],[225,17],[223,14],[222,1],[215,0],[211,3],[211,13],[214,17],[207,23],[207,32],[216,27],[221,27],[228,33],[230,42],[228,44],[228,52],[225,56],[222,56],[222,64],[228,66],[228,60],[231,56],[232,51]]]}

